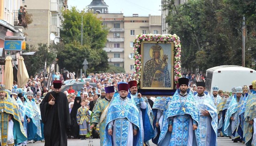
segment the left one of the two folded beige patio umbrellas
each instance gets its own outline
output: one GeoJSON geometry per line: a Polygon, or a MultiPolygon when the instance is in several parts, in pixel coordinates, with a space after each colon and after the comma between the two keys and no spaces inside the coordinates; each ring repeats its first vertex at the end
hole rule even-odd
{"type": "Polygon", "coordinates": [[[13,83],[13,69],[12,69],[12,58],[11,56],[6,56],[5,58],[5,72],[4,72],[4,85],[8,90],[12,89],[13,83]]]}

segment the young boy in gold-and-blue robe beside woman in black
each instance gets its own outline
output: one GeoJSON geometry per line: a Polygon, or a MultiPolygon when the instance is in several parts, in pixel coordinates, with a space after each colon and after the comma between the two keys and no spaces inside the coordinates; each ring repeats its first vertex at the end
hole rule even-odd
{"type": "Polygon", "coordinates": [[[76,114],[76,120],[79,125],[79,134],[81,137],[81,140],[86,139],[85,135],[87,134],[89,128],[90,128],[90,118],[91,118],[91,112],[89,108],[85,107],[86,102],[85,100],[81,101],[81,107],[78,109],[76,114]]]}

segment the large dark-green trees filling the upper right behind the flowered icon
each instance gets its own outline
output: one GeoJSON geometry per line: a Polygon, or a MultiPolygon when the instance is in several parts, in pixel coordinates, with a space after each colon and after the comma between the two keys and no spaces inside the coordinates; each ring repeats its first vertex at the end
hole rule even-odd
{"type": "Polygon", "coordinates": [[[189,0],[174,5],[166,0],[169,33],[182,43],[182,67],[206,70],[218,65],[241,65],[242,16],[246,17],[246,67],[255,68],[256,1],[189,0]]]}

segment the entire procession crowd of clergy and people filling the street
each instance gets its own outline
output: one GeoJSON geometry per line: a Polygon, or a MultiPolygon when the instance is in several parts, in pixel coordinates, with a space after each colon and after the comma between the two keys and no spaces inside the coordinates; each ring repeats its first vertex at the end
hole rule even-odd
{"type": "Polygon", "coordinates": [[[256,80],[231,93],[217,86],[209,93],[191,74],[178,80],[173,96],[155,98],[138,93],[131,74],[89,74],[80,91],[62,92],[69,75],[55,73],[49,89],[43,75],[23,89],[16,81],[11,91],[0,85],[1,146],[65,146],[67,139],[88,138],[100,138],[101,146],[216,146],[218,136],[256,144],[256,80]]]}

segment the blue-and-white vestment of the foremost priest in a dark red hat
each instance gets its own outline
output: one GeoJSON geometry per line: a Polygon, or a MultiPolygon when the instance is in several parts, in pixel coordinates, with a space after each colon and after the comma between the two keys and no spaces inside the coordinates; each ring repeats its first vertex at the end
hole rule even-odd
{"type": "Polygon", "coordinates": [[[142,146],[143,139],[140,131],[140,114],[134,99],[133,97],[127,98],[128,100],[124,103],[120,98],[120,96],[114,97],[108,107],[103,146],[112,146],[113,143],[114,145],[126,146],[129,136],[129,123],[132,123],[138,128],[137,135],[133,136],[133,146],[142,146]],[[116,127],[114,127],[116,128],[116,135],[113,134],[113,136],[116,137],[116,141],[112,141],[112,136],[108,135],[108,124],[112,121],[116,121],[116,127]]]}

